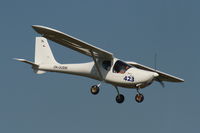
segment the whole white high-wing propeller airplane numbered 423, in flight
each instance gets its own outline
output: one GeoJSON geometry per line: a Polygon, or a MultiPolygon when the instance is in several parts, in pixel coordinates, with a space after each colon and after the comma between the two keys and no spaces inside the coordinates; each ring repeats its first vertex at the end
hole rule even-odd
{"type": "Polygon", "coordinates": [[[39,25],[33,25],[32,27],[37,33],[42,35],[42,37],[36,37],[35,61],[15,59],[32,65],[34,72],[37,74],[59,72],[99,80],[100,83],[93,85],[90,89],[94,95],[98,94],[101,82],[105,82],[116,88],[117,103],[124,101],[124,96],[120,94],[118,87],[135,88],[137,90],[135,100],[141,103],[144,100],[144,96],[139,90],[149,86],[153,81],[160,82],[162,86],[164,86],[163,81],[184,82],[181,78],[139,63],[122,61],[115,58],[108,51],[92,46],[58,30],[39,25]],[[47,39],[90,56],[93,61],[80,64],[60,64],[55,60],[47,39]]]}

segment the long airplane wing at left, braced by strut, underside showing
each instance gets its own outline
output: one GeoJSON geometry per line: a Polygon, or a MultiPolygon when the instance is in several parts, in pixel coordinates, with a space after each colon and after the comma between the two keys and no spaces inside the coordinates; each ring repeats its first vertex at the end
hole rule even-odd
{"type": "Polygon", "coordinates": [[[113,59],[112,53],[92,46],[91,44],[76,39],[58,30],[39,25],[33,25],[32,27],[37,33],[41,34],[43,37],[87,56],[94,56],[94,58],[113,59]]]}

